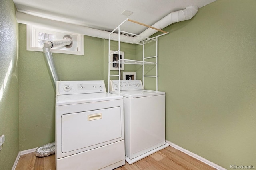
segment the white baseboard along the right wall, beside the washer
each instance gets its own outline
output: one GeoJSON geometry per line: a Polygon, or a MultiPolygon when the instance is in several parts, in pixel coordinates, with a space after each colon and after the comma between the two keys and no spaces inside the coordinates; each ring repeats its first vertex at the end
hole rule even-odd
{"type": "Polygon", "coordinates": [[[178,149],[181,152],[183,152],[183,153],[185,153],[185,154],[187,154],[187,155],[189,155],[189,156],[191,156],[191,157],[193,157],[193,158],[195,158],[195,159],[197,159],[197,160],[199,160],[199,161],[201,161],[201,162],[203,162],[203,163],[205,163],[209,166],[212,166],[213,168],[215,168],[217,170],[227,170],[227,169],[223,168],[222,166],[219,166],[218,164],[215,164],[215,163],[211,162],[210,160],[207,160],[207,159],[205,159],[205,158],[203,158],[203,157],[201,157],[197,154],[194,154],[194,153],[190,152],[189,150],[186,150],[186,149],[184,149],[184,148],[182,148],[182,147],[180,147],[180,146],[178,146],[178,145],[176,145],[176,144],[174,144],[170,141],[166,140],[166,143],[168,143],[171,147],[174,147],[175,149],[178,149]]]}

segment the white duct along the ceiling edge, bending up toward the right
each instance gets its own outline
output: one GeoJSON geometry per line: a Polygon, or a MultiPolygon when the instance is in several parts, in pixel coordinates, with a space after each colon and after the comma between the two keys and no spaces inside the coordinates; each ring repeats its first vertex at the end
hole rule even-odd
{"type": "MultiPolygon", "coordinates": [[[[196,15],[198,11],[198,8],[196,6],[189,6],[186,9],[171,12],[164,18],[162,18],[160,21],[156,22],[152,27],[156,27],[158,29],[163,29],[167,27],[168,25],[175,23],[175,22],[180,22],[180,21],[185,21],[191,19],[193,16],[196,15]]],[[[97,38],[102,38],[102,39],[108,39],[108,35],[110,32],[108,31],[101,31],[98,29],[93,29],[89,27],[84,27],[81,25],[74,25],[71,23],[64,23],[61,21],[54,21],[38,16],[32,16],[30,14],[25,14],[22,12],[16,12],[16,19],[18,23],[23,23],[23,24],[28,24],[28,25],[35,25],[39,27],[48,27],[51,29],[59,29],[63,31],[69,31],[69,32],[75,32],[75,33],[80,33],[82,35],[88,35],[91,37],[97,37],[97,38]]],[[[146,29],[144,32],[142,32],[139,36],[141,37],[150,37],[157,31],[153,29],[146,29]]],[[[138,39],[136,37],[130,37],[131,39],[134,39],[131,42],[138,43],[138,39]],[[135,40],[136,39],[136,40],[135,40]]],[[[118,41],[118,36],[116,36],[116,39],[113,39],[118,41]]]]}

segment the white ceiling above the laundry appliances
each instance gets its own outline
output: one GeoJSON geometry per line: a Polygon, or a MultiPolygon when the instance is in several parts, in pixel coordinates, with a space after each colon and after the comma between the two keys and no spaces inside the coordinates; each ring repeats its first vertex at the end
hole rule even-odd
{"type": "MultiPolygon", "coordinates": [[[[103,31],[112,31],[126,18],[153,25],[173,11],[201,8],[215,0],[13,0],[18,12],[103,31]],[[124,10],[130,16],[121,14],[124,10]]],[[[146,27],[126,25],[123,31],[140,34],[146,27]]]]}

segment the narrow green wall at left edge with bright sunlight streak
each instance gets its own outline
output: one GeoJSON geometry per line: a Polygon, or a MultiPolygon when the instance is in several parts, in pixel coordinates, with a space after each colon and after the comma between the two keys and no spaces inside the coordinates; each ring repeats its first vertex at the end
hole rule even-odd
{"type": "Polygon", "coordinates": [[[10,170],[19,152],[18,23],[12,1],[0,0],[0,169],[10,170]]]}

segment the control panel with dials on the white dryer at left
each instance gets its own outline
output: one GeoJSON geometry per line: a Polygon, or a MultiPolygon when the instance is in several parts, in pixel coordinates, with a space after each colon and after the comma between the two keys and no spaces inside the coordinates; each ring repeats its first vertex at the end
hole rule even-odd
{"type": "Polygon", "coordinates": [[[57,81],[56,93],[82,94],[106,92],[104,80],[99,81],[57,81]]]}

